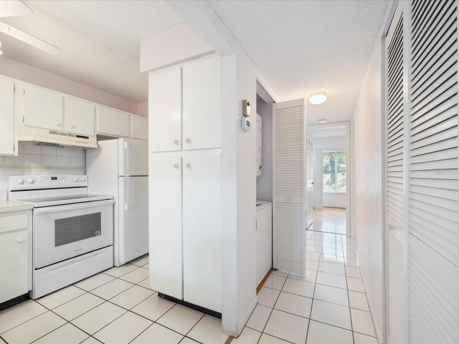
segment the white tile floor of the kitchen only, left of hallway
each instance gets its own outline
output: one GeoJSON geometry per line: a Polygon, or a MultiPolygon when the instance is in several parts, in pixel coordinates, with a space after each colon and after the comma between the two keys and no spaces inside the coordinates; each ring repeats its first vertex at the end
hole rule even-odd
{"type": "Polygon", "coordinates": [[[223,344],[221,328],[220,319],[159,298],[148,255],[0,311],[0,344],[223,344]]]}

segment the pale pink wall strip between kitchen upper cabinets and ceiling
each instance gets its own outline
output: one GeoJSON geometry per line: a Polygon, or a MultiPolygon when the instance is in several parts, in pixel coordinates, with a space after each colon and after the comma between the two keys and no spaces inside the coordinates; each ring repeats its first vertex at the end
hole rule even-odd
{"type": "MultiPolygon", "coordinates": [[[[59,75],[26,65],[25,63],[9,59],[5,56],[0,56],[0,75],[22,80],[27,83],[33,83],[34,85],[73,95],[81,99],[90,100],[118,110],[134,114],[138,113],[137,104],[132,101],[125,100],[116,95],[106,93],[82,83],[77,83],[67,78],[62,78],[59,75]]],[[[148,117],[148,111],[146,111],[146,113],[142,111],[139,115],[148,117]]]]}

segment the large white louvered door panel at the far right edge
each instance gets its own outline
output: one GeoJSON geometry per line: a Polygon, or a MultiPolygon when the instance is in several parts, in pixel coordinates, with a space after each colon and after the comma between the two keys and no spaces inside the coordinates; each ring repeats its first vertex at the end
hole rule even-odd
{"type": "Polygon", "coordinates": [[[459,343],[457,1],[408,6],[408,339],[459,343]]]}

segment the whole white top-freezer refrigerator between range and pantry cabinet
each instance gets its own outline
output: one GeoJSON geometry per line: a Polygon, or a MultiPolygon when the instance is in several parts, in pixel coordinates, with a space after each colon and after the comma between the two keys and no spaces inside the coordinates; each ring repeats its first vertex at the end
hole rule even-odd
{"type": "Polygon", "coordinates": [[[113,265],[148,253],[148,141],[98,141],[86,151],[88,192],[112,195],[113,265]]]}

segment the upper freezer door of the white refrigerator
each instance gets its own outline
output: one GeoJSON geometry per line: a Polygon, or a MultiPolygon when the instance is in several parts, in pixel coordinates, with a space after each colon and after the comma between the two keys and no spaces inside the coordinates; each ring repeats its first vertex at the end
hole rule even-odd
{"type": "Polygon", "coordinates": [[[148,175],[148,141],[118,139],[118,175],[148,175]]]}

